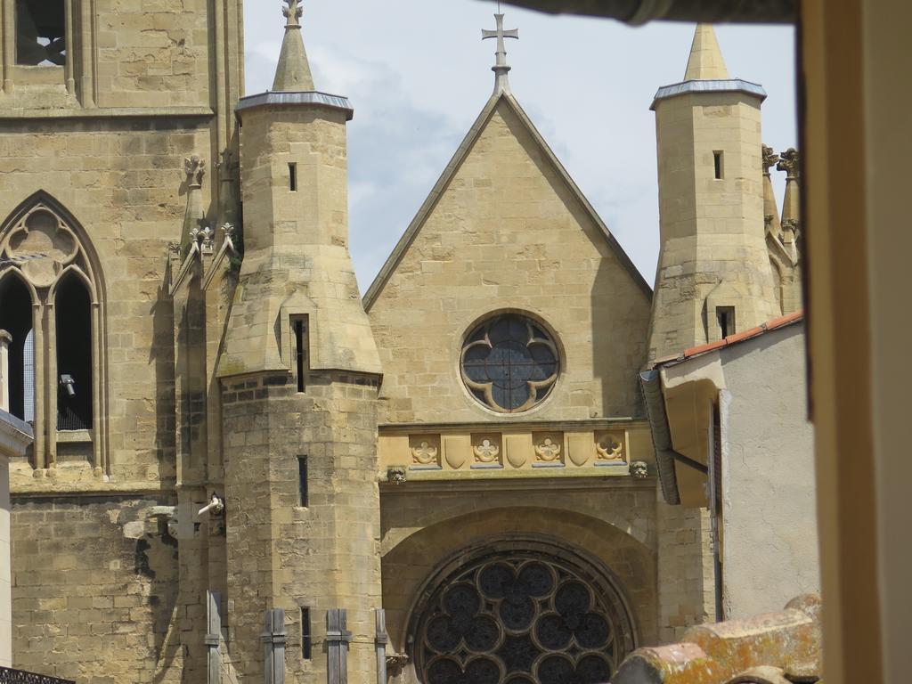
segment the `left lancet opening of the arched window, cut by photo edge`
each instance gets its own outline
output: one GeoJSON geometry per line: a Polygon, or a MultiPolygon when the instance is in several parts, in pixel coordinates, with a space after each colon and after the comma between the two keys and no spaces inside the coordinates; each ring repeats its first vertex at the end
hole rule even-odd
{"type": "Polygon", "coordinates": [[[32,296],[15,275],[0,284],[0,329],[12,337],[9,377],[9,412],[21,420],[35,420],[35,336],[32,331],[32,296]]]}

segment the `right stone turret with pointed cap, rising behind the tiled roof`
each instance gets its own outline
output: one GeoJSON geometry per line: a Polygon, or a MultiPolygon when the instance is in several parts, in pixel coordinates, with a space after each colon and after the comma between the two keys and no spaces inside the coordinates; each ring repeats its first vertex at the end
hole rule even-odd
{"type": "Polygon", "coordinates": [[[650,362],[782,313],[765,244],[765,98],[762,87],[729,76],[709,25],[697,26],[684,80],[658,90],[661,251],[650,362]]]}

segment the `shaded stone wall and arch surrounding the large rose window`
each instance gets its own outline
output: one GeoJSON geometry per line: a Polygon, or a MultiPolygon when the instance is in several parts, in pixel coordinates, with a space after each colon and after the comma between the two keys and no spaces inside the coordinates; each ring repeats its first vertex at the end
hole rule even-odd
{"type": "Polygon", "coordinates": [[[460,489],[422,482],[385,485],[382,554],[390,648],[409,651],[409,621],[424,584],[473,544],[548,539],[567,554],[592,555],[617,580],[638,643],[658,637],[654,483],[473,483],[460,489]]]}

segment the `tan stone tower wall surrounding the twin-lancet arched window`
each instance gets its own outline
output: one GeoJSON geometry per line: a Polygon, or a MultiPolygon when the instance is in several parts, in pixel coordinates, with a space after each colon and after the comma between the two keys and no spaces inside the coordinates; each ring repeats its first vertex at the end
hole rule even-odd
{"type": "MultiPolygon", "coordinates": [[[[0,216],[33,193],[51,193],[82,225],[100,261],[111,400],[105,407],[109,474],[126,482],[172,482],[173,316],[164,289],[167,244],[181,232],[183,159],[209,147],[202,119],[0,122],[0,216]]],[[[98,484],[85,447],[69,447],[57,483],[13,464],[13,490],[98,484]],[[83,451],[79,451],[83,449],[83,451]]]]}

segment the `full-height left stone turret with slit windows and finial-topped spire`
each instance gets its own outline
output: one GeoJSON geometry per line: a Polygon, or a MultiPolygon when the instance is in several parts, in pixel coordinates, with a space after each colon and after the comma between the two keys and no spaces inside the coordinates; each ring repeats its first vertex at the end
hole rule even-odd
{"type": "Polygon", "coordinates": [[[285,5],[274,89],[237,107],[245,254],[219,362],[231,659],[242,682],[278,667],[316,682],[344,677],[342,654],[347,680],[367,684],[381,371],[348,254],[352,109],[315,90],[299,0],[285,5]],[[285,641],[285,658],[264,658],[285,641]]]}

